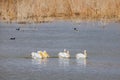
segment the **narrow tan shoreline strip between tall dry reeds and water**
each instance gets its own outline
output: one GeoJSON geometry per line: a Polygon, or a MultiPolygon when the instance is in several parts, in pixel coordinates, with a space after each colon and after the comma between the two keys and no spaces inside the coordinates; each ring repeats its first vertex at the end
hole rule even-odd
{"type": "Polygon", "coordinates": [[[65,17],[51,17],[47,20],[46,19],[43,19],[43,20],[40,20],[40,21],[34,21],[34,20],[12,20],[12,21],[9,21],[9,20],[1,20],[0,23],[18,23],[18,24],[32,24],[32,23],[36,23],[36,24],[39,24],[39,23],[51,23],[51,22],[54,22],[54,21],[102,21],[102,22],[115,22],[115,23],[120,23],[120,20],[119,19],[114,19],[114,18],[111,18],[111,19],[104,19],[104,18],[65,18],[65,17]]]}

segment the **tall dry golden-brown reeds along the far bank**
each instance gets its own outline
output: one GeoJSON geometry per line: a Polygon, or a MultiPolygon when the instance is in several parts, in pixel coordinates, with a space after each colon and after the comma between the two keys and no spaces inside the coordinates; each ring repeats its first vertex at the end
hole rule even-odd
{"type": "Polygon", "coordinates": [[[0,0],[1,21],[120,20],[120,0],[0,0]]]}

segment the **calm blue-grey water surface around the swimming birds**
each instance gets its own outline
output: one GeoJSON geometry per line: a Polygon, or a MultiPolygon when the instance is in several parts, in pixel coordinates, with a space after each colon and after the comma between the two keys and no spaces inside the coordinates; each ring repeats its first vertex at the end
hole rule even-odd
{"type": "Polygon", "coordinates": [[[56,21],[41,24],[0,23],[0,80],[119,80],[120,24],[56,21]],[[16,30],[20,27],[20,30],[16,30]],[[75,31],[77,28],[78,31],[75,31]],[[15,37],[15,40],[10,40],[15,37]],[[72,58],[33,60],[33,51],[72,58]],[[86,60],[75,58],[87,50],[86,60]]]}

